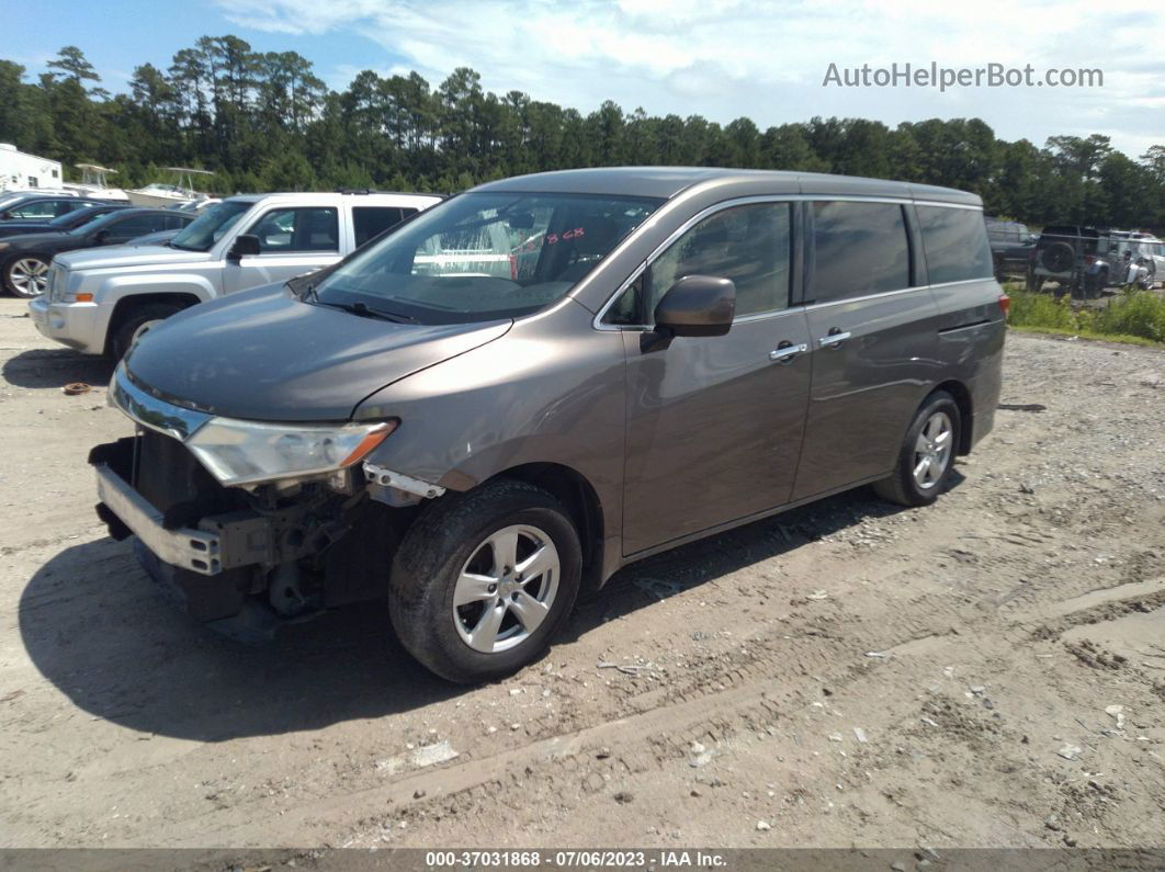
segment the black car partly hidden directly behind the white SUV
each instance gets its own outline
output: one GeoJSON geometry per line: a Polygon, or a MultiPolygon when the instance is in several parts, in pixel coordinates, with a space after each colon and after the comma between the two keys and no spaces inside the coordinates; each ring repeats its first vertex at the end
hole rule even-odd
{"type": "Polygon", "coordinates": [[[40,297],[54,257],[80,248],[119,246],[154,231],[184,227],[193,215],[157,208],[120,208],[66,233],[31,233],[0,240],[0,281],[17,297],[40,297]]]}

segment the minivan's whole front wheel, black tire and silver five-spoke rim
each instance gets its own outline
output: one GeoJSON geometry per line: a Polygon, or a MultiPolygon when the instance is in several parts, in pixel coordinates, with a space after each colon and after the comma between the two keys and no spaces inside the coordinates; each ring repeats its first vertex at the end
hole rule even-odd
{"type": "Polygon", "coordinates": [[[446,495],[409,527],[393,560],[389,618],[408,652],[437,675],[458,683],[499,679],[534,661],[558,633],[581,567],[578,531],[562,503],[532,484],[497,480],[446,495]],[[510,533],[516,560],[499,566],[507,548],[492,541],[510,533]],[[537,554],[553,568],[524,580],[513,572],[537,554]],[[464,604],[454,607],[454,595],[464,604]],[[538,601],[546,608],[535,608],[538,601]]]}

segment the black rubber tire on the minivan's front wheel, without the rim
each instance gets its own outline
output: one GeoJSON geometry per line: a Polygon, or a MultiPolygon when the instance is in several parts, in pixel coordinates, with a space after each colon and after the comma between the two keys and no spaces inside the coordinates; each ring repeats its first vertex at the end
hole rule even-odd
{"type": "Polygon", "coordinates": [[[565,509],[549,492],[522,482],[485,485],[435,505],[404,537],[393,561],[389,616],[404,647],[450,681],[471,683],[509,675],[535,660],[566,622],[581,579],[581,546],[565,509]],[[527,524],[545,532],[559,559],[550,614],[521,645],[496,654],[474,651],[453,625],[453,589],[461,567],[496,530],[527,524]]]}

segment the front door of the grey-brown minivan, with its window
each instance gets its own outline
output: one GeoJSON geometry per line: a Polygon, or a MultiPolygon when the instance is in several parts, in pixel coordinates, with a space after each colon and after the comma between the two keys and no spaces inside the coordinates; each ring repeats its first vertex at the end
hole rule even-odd
{"type": "MultiPolygon", "coordinates": [[[[652,312],[679,278],[733,279],[736,318],[723,336],[675,338],[627,352],[623,552],[762,512],[793,487],[810,385],[805,313],[789,309],[789,203],[734,206],[684,233],[616,305],[652,312]]],[[[650,321],[650,318],[647,319],[650,321]]]]}

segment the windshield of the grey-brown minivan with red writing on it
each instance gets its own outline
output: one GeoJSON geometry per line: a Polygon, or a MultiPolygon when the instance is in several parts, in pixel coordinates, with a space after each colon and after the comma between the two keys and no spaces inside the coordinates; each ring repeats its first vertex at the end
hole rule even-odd
{"type": "Polygon", "coordinates": [[[461,194],[360,250],[319,283],[316,296],[425,324],[529,314],[562,299],[662,203],[461,194]]]}

